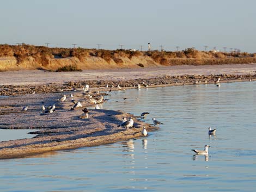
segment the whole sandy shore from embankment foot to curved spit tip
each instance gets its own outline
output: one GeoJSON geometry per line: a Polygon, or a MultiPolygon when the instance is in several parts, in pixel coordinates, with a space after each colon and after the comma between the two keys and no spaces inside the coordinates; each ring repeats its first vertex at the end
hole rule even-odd
{"type": "Polygon", "coordinates": [[[0,142],[0,159],[25,157],[31,154],[64,150],[82,146],[95,146],[115,141],[142,137],[143,126],[149,131],[157,129],[135,118],[133,128],[118,127],[125,112],[113,110],[90,110],[88,119],[81,119],[81,109],[70,110],[74,105],[71,97],[65,102],[57,101],[71,91],[75,101],[83,107],[92,106],[81,88],[89,83],[93,90],[117,90],[120,84],[125,89],[136,88],[138,83],[154,86],[214,83],[218,77],[222,82],[237,82],[256,79],[256,64],[215,66],[172,66],[136,70],[88,70],[83,72],[15,71],[0,72],[0,128],[39,128],[32,139],[0,142]],[[103,88],[109,83],[111,88],[103,88]],[[31,94],[35,91],[35,94],[31,94]],[[41,106],[56,104],[56,112],[40,115],[41,106]],[[22,112],[23,106],[29,106],[22,112]]]}

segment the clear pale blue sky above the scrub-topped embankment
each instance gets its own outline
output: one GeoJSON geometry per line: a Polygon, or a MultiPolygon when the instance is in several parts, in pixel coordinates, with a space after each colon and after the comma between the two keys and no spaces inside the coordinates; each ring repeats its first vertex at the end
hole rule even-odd
{"type": "Polygon", "coordinates": [[[0,0],[0,44],[256,52],[254,0],[0,0]]]}

